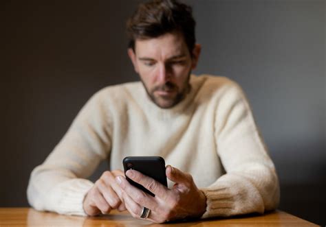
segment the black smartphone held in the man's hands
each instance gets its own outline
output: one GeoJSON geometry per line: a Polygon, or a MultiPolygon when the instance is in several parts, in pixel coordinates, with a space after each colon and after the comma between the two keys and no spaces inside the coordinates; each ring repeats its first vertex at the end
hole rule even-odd
{"type": "MultiPolygon", "coordinates": [[[[160,156],[128,156],[123,159],[122,164],[124,168],[124,176],[126,176],[125,174],[128,169],[135,169],[168,187],[166,182],[164,158],[160,156]]],[[[126,179],[133,186],[155,197],[151,191],[145,189],[141,184],[134,182],[127,176],[126,179]]]]}

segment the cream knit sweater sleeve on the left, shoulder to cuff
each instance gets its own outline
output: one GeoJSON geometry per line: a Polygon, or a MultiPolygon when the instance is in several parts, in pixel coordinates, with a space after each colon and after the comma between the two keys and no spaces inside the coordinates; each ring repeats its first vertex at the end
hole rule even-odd
{"type": "Polygon", "coordinates": [[[96,93],[80,110],[69,130],[28,184],[28,202],[36,210],[86,215],[84,197],[93,187],[86,180],[111,149],[111,123],[103,93],[96,93]]]}

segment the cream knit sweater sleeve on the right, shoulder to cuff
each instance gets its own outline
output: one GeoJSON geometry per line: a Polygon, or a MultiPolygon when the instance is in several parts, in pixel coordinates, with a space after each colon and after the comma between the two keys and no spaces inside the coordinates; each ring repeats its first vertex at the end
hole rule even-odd
{"type": "Polygon", "coordinates": [[[248,101],[232,84],[219,101],[215,120],[217,153],[226,174],[209,187],[206,217],[263,213],[279,204],[279,180],[254,123],[248,101]]]}

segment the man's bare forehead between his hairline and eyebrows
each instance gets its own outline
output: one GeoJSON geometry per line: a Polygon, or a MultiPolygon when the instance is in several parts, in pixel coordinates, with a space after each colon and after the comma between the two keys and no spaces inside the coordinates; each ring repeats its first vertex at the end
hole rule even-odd
{"type": "Polygon", "coordinates": [[[164,34],[157,38],[135,40],[135,53],[139,57],[169,57],[187,54],[188,49],[182,34],[164,34]]]}

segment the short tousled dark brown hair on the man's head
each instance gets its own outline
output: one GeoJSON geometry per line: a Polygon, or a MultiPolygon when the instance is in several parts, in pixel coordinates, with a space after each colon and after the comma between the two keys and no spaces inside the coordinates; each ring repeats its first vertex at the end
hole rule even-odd
{"type": "Polygon", "coordinates": [[[152,0],[138,5],[127,21],[129,48],[135,51],[136,39],[157,38],[166,33],[180,32],[191,56],[195,47],[195,19],[191,6],[176,0],[152,0]]]}

